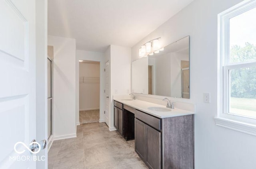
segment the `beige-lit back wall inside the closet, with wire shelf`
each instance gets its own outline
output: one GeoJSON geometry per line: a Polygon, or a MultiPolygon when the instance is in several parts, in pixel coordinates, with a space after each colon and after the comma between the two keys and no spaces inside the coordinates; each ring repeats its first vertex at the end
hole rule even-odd
{"type": "Polygon", "coordinates": [[[100,64],[79,63],[79,79],[79,110],[100,109],[100,64]]]}

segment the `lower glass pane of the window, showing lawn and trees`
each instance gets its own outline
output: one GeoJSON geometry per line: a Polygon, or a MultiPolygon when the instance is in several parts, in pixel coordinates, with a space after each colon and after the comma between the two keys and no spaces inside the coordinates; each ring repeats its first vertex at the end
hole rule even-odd
{"type": "Polygon", "coordinates": [[[256,67],[230,70],[229,113],[256,118],[256,67]]]}

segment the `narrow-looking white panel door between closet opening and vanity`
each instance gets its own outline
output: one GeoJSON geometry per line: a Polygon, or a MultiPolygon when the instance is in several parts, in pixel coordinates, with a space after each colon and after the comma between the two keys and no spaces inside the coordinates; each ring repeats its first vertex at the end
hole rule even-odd
{"type": "Polygon", "coordinates": [[[105,122],[109,126],[109,62],[105,63],[105,122]]]}

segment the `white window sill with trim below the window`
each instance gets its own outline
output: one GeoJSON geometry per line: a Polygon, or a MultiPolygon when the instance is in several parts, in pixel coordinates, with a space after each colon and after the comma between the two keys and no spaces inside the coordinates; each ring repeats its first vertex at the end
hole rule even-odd
{"type": "Polygon", "coordinates": [[[256,125],[230,120],[228,118],[214,117],[217,126],[222,126],[239,132],[256,136],[256,125]]]}

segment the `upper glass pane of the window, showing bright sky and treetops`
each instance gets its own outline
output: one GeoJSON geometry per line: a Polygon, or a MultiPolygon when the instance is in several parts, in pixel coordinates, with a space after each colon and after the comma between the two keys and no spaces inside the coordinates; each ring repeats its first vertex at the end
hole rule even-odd
{"type": "Polygon", "coordinates": [[[230,63],[256,60],[256,8],[229,20],[230,63]]]}

